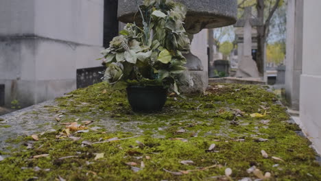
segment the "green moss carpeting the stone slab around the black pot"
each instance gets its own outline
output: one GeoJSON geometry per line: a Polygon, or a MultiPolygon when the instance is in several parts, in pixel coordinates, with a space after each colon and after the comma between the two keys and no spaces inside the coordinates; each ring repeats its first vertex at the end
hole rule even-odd
{"type": "MultiPolygon", "coordinates": [[[[287,122],[289,116],[285,108],[276,104],[273,93],[261,86],[222,85],[213,84],[205,95],[169,97],[164,110],[152,114],[132,112],[126,93],[111,90],[105,83],[75,90],[67,97],[58,98],[58,107],[47,107],[47,110],[53,115],[64,112],[60,122],[78,118],[80,121],[93,120],[89,127],[102,129],[74,134],[81,137],[79,141],[59,140],[56,135],[63,126],[57,125],[57,132],[39,136],[40,141],[34,143],[34,149],[27,150],[23,144],[19,150],[12,149],[11,156],[0,162],[3,173],[0,180],[33,177],[55,180],[58,176],[66,180],[215,180],[211,177],[224,176],[227,167],[233,169],[233,180],[240,180],[255,178],[246,172],[253,165],[272,173],[271,180],[321,180],[316,153],[306,138],[296,134],[300,128],[287,122]],[[241,115],[235,116],[239,110],[241,115]],[[266,112],[266,115],[250,117],[255,112],[266,112]],[[112,119],[118,131],[110,132],[110,125],[104,124],[105,119],[112,119]],[[270,122],[264,125],[262,119],[270,122]],[[82,141],[97,142],[136,135],[139,137],[82,146],[82,141]],[[268,140],[260,142],[259,138],[268,140]],[[206,149],[213,143],[216,144],[215,152],[208,152],[206,149]],[[262,149],[269,158],[261,156],[262,149]],[[104,158],[95,160],[95,153],[104,153],[104,158]],[[39,154],[50,156],[30,159],[39,154]],[[59,159],[64,156],[78,157],[59,159]],[[274,160],[271,156],[285,161],[274,160]],[[182,165],[182,160],[193,160],[194,163],[182,165]],[[138,172],[126,165],[126,162],[140,165],[141,161],[145,168],[138,172]],[[278,167],[273,167],[276,164],[278,167]],[[191,171],[182,176],[163,170],[193,170],[211,165],[217,167],[191,171]],[[34,167],[50,171],[34,171],[34,167]]],[[[32,138],[27,136],[8,142],[16,145],[25,141],[32,141],[32,138]]]]}

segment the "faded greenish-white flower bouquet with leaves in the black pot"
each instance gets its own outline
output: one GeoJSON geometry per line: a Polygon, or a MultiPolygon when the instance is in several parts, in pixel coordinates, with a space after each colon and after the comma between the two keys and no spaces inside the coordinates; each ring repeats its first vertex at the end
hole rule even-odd
{"type": "Polygon", "coordinates": [[[145,0],[138,7],[135,19],[140,21],[128,23],[102,51],[104,78],[117,89],[163,86],[178,93],[178,86],[190,80],[182,56],[190,44],[183,26],[187,10],[171,0],[145,0]]]}

